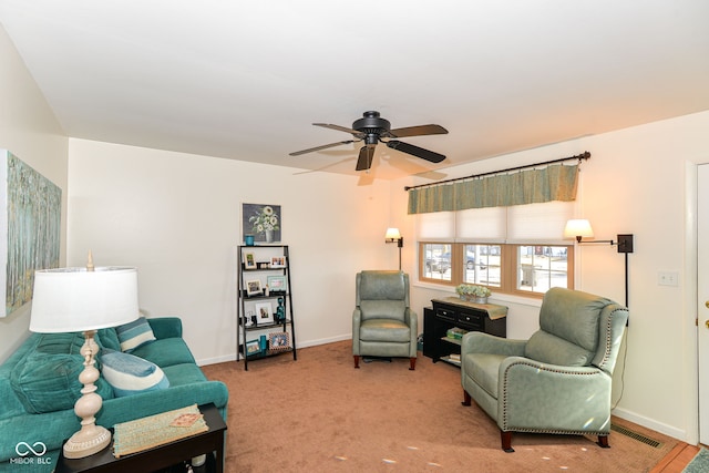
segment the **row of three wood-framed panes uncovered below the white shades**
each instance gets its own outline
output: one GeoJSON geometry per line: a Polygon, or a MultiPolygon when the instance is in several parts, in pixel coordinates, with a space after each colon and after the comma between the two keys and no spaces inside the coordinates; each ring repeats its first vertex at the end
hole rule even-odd
{"type": "Polygon", "coordinates": [[[552,287],[574,287],[573,251],[573,245],[420,243],[419,279],[541,297],[552,287]]]}

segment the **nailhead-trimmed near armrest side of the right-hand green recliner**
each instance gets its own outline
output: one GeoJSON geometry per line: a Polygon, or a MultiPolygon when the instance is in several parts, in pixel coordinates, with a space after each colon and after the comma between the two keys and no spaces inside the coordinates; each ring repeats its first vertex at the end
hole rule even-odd
{"type": "Polygon", "coordinates": [[[510,357],[499,373],[497,424],[503,431],[610,431],[612,379],[603,370],[510,357]]]}

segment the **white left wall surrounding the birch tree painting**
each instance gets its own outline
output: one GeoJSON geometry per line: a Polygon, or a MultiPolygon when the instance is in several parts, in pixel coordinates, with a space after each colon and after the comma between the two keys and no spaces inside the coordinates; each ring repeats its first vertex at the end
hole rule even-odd
{"type": "MultiPolygon", "coordinates": [[[[9,150],[62,188],[62,216],[65,216],[68,140],[2,28],[0,64],[0,148],[9,150]]],[[[65,218],[62,218],[62,263],[65,236],[65,218]]],[[[0,318],[0,362],[28,337],[29,306],[0,318]]]]}

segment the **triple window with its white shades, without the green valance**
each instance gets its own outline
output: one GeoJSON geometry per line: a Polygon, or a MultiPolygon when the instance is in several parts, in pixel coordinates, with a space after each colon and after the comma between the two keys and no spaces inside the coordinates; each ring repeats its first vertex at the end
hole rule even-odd
{"type": "Polygon", "coordinates": [[[573,215],[567,202],[419,214],[419,279],[536,297],[573,288],[574,245],[562,239],[573,215]]]}

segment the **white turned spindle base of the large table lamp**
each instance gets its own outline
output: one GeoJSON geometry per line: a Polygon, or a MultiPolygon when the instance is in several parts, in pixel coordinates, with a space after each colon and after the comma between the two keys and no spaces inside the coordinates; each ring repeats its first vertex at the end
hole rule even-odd
{"type": "Polygon", "coordinates": [[[94,415],[101,410],[103,400],[96,391],[94,382],[99,380],[99,370],[94,367],[94,356],[99,352],[99,346],[93,337],[95,330],[84,332],[84,345],[81,347],[81,354],[84,357],[84,369],[79,374],[79,381],[84,385],[81,390],[83,394],[74,404],[74,412],[81,421],[81,430],[74,433],[64,444],[64,457],[83,459],[93,455],[109,446],[111,443],[111,432],[101,425],[96,425],[94,415]]]}

